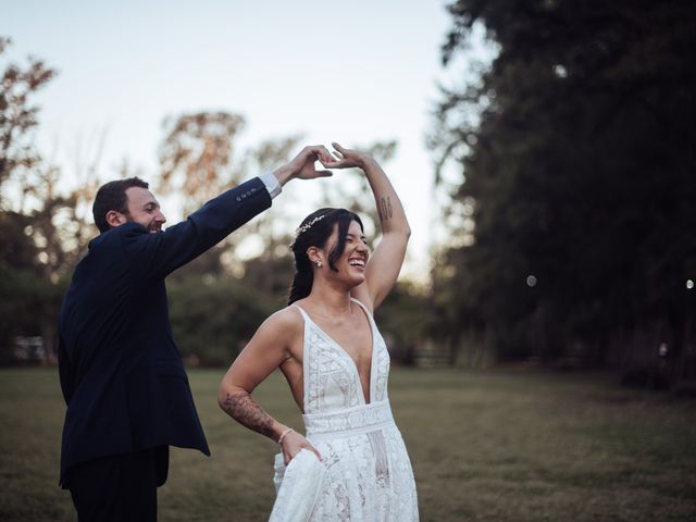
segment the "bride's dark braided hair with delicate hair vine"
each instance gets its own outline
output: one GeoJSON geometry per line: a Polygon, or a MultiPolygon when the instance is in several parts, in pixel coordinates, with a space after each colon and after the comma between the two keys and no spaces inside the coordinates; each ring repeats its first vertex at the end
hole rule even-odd
{"type": "Polygon", "coordinates": [[[288,304],[309,296],[312,291],[314,273],[307,250],[310,247],[323,248],[336,224],[338,224],[338,241],[328,253],[328,268],[338,272],[334,263],[346,249],[346,234],[351,221],[358,222],[360,229],[363,231],[362,221],[358,214],[346,209],[319,209],[302,220],[295,243],[290,246],[295,254],[295,277],[293,277],[290,285],[288,304]]]}

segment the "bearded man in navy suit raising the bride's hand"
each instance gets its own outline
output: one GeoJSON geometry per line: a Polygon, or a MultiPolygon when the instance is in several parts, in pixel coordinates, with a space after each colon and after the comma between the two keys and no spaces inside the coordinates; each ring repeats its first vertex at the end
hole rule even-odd
{"type": "Polygon", "coordinates": [[[77,264],[60,313],[59,371],[67,411],[61,485],[83,521],[157,520],[169,446],[210,455],[172,336],[164,277],[271,206],[328,151],[306,147],[288,164],[209,201],[162,232],[160,204],[137,177],[97,192],[101,234],[77,264]]]}

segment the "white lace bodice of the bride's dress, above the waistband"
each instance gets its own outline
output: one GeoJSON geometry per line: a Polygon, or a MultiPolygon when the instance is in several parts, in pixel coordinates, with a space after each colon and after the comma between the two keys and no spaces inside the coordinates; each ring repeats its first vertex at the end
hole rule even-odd
{"type": "MultiPolygon", "coordinates": [[[[352,299],[368,316],[372,331],[370,363],[370,401],[387,400],[389,352],[374,319],[365,306],[352,299]]],[[[304,319],[303,340],[303,406],[306,414],[328,413],[356,406],[364,406],[365,398],[358,366],[346,350],[316,325],[309,314],[296,304],[304,319]]]]}

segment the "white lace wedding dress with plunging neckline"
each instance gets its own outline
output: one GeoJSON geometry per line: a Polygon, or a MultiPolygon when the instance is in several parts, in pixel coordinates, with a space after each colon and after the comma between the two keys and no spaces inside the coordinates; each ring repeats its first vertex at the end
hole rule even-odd
{"type": "Polygon", "coordinates": [[[350,356],[304,312],[304,427],[322,455],[275,459],[277,498],[271,521],[418,521],[411,462],[387,397],[389,353],[374,319],[370,398],[350,356]]]}

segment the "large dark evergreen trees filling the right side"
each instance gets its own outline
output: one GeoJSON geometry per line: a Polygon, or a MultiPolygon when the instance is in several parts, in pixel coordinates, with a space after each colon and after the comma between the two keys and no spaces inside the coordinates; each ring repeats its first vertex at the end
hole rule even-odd
{"type": "Polygon", "coordinates": [[[475,222],[473,244],[445,252],[464,290],[447,304],[492,328],[504,355],[580,346],[594,363],[635,362],[656,357],[659,337],[673,353],[693,345],[695,9],[449,7],[445,63],[476,24],[499,52],[477,82],[444,90],[437,113],[438,160],[462,175],[452,201],[472,202],[475,222]]]}

